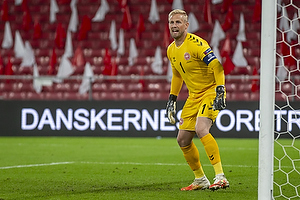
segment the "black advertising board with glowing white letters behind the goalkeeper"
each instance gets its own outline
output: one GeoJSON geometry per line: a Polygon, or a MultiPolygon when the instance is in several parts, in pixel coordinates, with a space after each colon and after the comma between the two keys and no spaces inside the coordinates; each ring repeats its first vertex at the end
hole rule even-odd
{"type": "MultiPolygon", "coordinates": [[[[178,102],[177,121],[184,102],[178,102]]],[[[0,101],[1,136],[176,137],[163,101],[0,101]]],[[[275,131],[299,133],[299,110],[275,110],[275,131]]],[[[228,102],[215,137],[257,138],[258,102],[228,102]]]]}

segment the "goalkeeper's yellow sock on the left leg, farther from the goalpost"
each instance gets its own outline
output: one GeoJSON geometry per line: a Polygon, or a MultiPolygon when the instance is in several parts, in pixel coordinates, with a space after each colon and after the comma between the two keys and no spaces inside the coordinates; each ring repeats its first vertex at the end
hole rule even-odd
{"type": "Polygon", "coordinates": [[[185,160],[193,170],[195,178],[201,178],[202,176],[204,176],[204,172],[200,164],[199,151],[194,142],[192,141],[190,145],[180,148],[183,152],[185,160]]]}

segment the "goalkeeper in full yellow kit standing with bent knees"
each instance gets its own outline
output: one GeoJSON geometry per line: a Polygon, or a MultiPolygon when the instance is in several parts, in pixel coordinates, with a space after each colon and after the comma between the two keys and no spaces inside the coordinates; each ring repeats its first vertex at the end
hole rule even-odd
{"type": "Polygon", "coordinates": [[[175,124],[176,99],[183,81],[189,90],[189,97],[179,121],[177,142],[195,179],[192,184],[181,190],[227,188],[229,182],[223,173],[218,144],[209,133],[219,110],[225,108],[223,66],[205,40],[187,32],[189,23],[185,11],[179,9],[171,11],[168,20],[174,41],[167,49],[173,75],[166,111],[172,124],[175,124]],[[212,185],[205,176],[198,149],[193,143],[195,134],[200,138],[213,165],[215,178],[212,185]]]}

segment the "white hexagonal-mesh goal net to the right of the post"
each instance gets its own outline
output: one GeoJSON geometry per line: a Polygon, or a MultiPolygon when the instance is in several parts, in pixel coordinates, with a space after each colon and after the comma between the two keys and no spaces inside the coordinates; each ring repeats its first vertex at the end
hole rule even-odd
{"type": "Polygon", "coordinates": [[[276,17],[273,199],[300,199],[300,1],[276,17]]]}

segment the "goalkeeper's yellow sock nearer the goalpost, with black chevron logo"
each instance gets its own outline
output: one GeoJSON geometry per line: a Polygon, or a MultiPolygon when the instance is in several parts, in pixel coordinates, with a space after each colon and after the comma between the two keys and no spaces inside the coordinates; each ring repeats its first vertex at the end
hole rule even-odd
{"type": "Polygon", "coordinates": [[[200,140],[204,146],[204,149],[210,160],[210,163],[214,167],[215,174],[223,173],[219,147],[215,138],[209,133],[206,136],[202,137],[200,140]]]}

